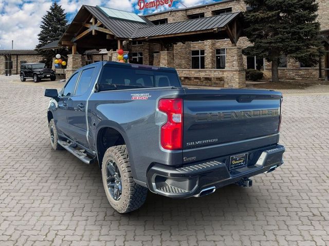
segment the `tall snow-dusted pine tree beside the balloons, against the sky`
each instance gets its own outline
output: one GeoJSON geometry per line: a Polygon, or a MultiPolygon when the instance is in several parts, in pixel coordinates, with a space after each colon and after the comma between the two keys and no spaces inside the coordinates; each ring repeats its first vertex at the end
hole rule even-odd
{"type": "MultiPolygon", "coordinates": [[[[49,11],[47,11],[47,13],[42,17],[41,23],[41,31],[38,34],[39,44],[35,47],[37,50],[40,47],[61,38],[67,27],[66,14],[64,13],[62,7],[54,2],[49,11]]],[[[56,54],[54,54],[52,50],[38,51],[44,57],[47,66],[51,67],[52,57],[56,54]]],[[[67,54],[67,50],[63,48],[57,50],[57,53],[67,54]]]]}

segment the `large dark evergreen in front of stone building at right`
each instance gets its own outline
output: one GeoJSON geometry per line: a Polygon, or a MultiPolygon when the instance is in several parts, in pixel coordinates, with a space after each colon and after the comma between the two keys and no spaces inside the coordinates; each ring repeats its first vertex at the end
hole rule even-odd
{"type": "Polygon", "coordinates": [[[245,0],[251,10],[244,13],[245,33],[252,46],[245,55],[257,55],[272,62],[272,81],[279,81],[281,55],[315,65],[323,46],[319,37],[316,0],[245,0]]]}

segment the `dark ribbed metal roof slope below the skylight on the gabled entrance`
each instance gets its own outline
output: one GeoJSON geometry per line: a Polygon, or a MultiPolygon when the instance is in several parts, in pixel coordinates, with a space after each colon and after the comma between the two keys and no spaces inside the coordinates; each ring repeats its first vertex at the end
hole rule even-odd
{"type": "Polygon", "coordinates": [[[108,30],[110,30],[116,37],[130,38],[134,31],[141,27],[148,27],[154,25],[147,18],[140,16],[145,23],[134,22],[133,20],[124,20],[111,18],[104,15],[104,13],[97,7],[84,5],[85,9],[94,15],[108,30]]]}

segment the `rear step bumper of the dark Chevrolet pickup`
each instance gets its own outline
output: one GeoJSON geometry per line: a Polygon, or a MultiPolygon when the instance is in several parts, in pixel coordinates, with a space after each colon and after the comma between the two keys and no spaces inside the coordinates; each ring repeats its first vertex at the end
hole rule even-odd
{"type": "Polygon", "coordinates": [[[152,192],[168,197],[199,196],[205,189],[214,190],[275,170],[283,164],[284,151],[281,145],[253,150],[248,166],[231,171],[228,167],[230,156],[178,168],[155,164],[147,173],[147,185],[152,192]]]}

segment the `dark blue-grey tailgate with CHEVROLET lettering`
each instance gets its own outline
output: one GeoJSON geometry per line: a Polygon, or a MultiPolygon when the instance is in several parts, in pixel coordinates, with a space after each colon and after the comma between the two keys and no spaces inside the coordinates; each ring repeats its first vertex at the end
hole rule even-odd
{"type": "Polygon", "coordinates": [[[281,98],[267,90],[186,89],[184,163],[277,144],[281,98]]]}

